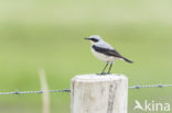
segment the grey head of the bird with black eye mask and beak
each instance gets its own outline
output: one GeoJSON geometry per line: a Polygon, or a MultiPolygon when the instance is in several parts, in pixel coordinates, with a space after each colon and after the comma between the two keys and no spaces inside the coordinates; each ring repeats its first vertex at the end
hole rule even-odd
{"type": "Polygon", "coordinates": [[[92,35],[89,37],[85,37],[85,39],[90,41],[92,44],[96,44],[103,41],[103,38],[99,35],[92,35]]]}

